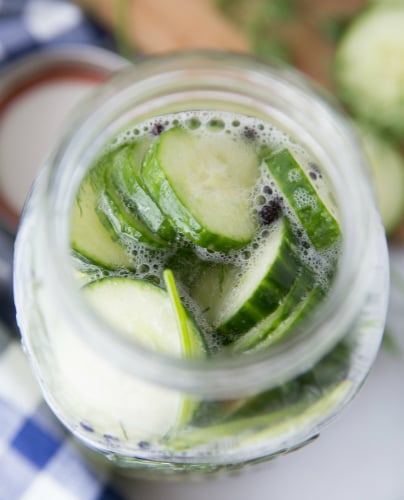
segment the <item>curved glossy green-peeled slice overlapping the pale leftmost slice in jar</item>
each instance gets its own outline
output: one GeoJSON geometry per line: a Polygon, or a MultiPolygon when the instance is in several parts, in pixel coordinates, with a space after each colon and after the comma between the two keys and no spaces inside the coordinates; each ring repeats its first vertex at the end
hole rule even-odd
{"type": "Polygon", "coordinates": [[[175,231],[147,193],[140,177],[141,164],[150,144],[151,140],[144,138],[121,147],[106,170],[105,185],[128,223],[148,237],[154,234],[154,240],[164,245],[175,239],[175,231]]]}

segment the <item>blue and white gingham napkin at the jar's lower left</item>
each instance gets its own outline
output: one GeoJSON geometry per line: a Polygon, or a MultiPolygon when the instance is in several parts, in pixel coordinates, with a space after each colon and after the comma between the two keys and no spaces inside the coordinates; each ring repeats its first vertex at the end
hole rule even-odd
{"type": "Polygon", "coordinates": [[[20,343],[1,323],[0,499],[121,499],[51,414],[20,343]]]}

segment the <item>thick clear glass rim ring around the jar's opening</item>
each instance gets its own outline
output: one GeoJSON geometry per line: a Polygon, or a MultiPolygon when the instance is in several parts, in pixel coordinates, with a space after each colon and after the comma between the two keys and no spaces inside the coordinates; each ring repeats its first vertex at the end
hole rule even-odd
{"type": "Polygon", "coordinates": [[[92,349],[150,382],[209,398],[231,398],[258,393],[303,373],[349,331],[366,296],[367,246],[374,236],[370,220],[375,208],[363,183],[366,166],[349,124],[303,77],[250,56],[216,51],[153,57],[101,85],[72,117],[69,130],[47,163],[47,196],[41,208],[49,241],[49,275],[76,331],[86,332],[92,349]],[[339,271],[304,331],[265,352],[204,360],[151,352],[114,335],[77,293],[71,270],[70,209],[97,153],[125,127],[158,116],[162,109],[183,111],[181,103],[221,103],[220,109],[234,109],[235,99],[241,111],[275,120],[299,137],[326,168],[344,234],[339,271]]]}

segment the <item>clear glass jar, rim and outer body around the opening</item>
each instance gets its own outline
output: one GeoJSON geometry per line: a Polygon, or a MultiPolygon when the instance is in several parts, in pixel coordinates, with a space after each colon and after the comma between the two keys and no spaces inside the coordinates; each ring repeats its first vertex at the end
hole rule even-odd
{"type": "Polygon", "coordinates": [[[384,231],[355,136],[294,71],[217,52],[155,57],[80,106],[37,179],[15,256],[23,346],[44,397],[85,445],[124,469],[239,467],[317,436],[357,393],[380,345],[387,305],[384,231]],[[174,359],[117,336],[83,300],[69,245],[83,176],[117,134],[186,110],[275,124],[316,159],[339,207],[338,272],[304,329],[249,356],[174,359]],[[184,401],[193,418],[171,425],[184,401]]]}

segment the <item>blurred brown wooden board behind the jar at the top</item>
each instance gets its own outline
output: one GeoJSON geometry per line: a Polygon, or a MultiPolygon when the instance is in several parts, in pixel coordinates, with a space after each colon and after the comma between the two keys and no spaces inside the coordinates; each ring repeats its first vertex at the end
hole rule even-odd
{"type": "MultiPolygon", "coordinates": [[[[332,41],[324,37],[325,18],[349,16],[365,0],[306,0],[295,21],[277,26],[286,37],[292,62],[330,86],[332,41]]],[[[248,52],[251,40],[215,7],[214,0],[76,0],[103,25],[124,30],[140,52],[156,54],[189,48],[248,52]]]]}

